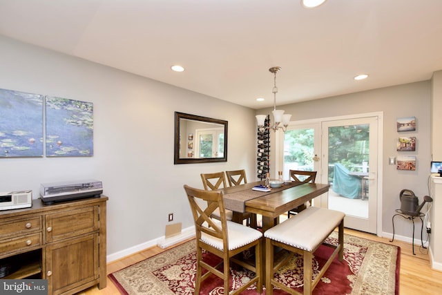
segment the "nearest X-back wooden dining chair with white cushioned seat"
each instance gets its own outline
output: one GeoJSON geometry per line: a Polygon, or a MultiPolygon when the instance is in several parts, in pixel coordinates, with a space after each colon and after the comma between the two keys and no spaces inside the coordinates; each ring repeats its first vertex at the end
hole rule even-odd
{"type": "MultiPolygon", "coordinates": [[[[200,294],[202,282],[215,274],[224,281],[224,294],[239,294],[247,287],[256,283],[258,294],[262,292],[262,233],[251,227],[246,227],[235,222],[227,220],[224,208],[222,191],[207,191],[194,189],[184,185],[189,204],[191,205],[193,220],[195,222],[196,234],[196,253],[197,269],[195,278],[195,294],[200,294]],[[199,200],[199,202],[198,202],[199,200]],[[202,202],[207,203],[207,207],[200,207],[202,202]],[[220,220],[212,218],[214,211],[219,211],[220,220]],[[255,249],[254,265],[247,263],[233,256],[242,253],[248,249],[255,249]],[[206,261],[204,253],[210,252],[222,258],[218,265],[212,266],[213,261],[206,261]],[[244,285],[230,293],[229,274],[230,266],[236,263],[249,271],[255,273],[255,276],[245,282],[244,285]],[[203,274],[203,270],[207,272],[203,274]]],[[[249,250],[250,251],[250,250],[249,250]]]]}

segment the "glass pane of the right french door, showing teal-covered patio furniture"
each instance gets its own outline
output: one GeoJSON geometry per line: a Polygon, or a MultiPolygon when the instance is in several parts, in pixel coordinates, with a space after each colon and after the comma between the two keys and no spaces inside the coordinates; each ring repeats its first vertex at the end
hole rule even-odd
{"type": "Polygon", "coordinates": [[[329,127],[329,209],[368,218],[369,124],[329,127]]]}

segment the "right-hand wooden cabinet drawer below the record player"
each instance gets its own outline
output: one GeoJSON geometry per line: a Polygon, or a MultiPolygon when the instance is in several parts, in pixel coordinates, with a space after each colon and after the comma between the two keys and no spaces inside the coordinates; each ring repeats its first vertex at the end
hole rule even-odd
{"type": "Polygon", "coordinates": [[[99,229],[99,206],[46,215],[46,242],[88,234],[99,229]]]}

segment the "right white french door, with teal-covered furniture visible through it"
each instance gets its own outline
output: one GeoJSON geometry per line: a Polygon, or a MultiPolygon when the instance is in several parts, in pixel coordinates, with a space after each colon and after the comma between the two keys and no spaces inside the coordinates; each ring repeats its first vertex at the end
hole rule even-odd
{"type": "Polygon", "coordinates": [[[376,234],[377,117],[327,121],[322,130],[321,180],[331,185],[327,207],[345,213],[345,227],[376,234]]]}

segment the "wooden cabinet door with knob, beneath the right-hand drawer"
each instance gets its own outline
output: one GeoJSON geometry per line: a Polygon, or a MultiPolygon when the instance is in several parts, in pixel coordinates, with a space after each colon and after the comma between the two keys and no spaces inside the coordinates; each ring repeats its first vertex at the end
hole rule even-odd
{"type": "Polygon", "coordinates": [[[46,246],[48,294],[98,283],[98,237],[99,234],[90,234],[46,246]]]}

